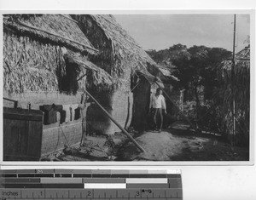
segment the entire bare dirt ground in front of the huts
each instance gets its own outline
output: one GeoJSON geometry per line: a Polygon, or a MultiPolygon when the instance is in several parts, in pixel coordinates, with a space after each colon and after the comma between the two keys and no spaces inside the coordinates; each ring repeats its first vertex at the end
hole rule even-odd
{"type": "Polygon", "coordinates": [[[84,146],[73,146],[58,154],[59,161],[248,161],[249,150],[233,147],[217,134],[196,134],[176,124],[161,133],[133,134],[145,152],[125,134],[87,136],[84,146]]]}

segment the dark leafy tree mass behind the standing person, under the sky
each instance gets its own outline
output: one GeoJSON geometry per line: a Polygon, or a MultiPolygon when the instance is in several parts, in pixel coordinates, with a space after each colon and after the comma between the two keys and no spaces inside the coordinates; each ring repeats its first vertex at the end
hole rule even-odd
{"type": "Polygon", "coordinates": [[[231,57],[231,52],[226,49],[206,46],[193,46],[188,49],[182,44],[160,51],[149,50],[148,54],[157,63],[169,62],[177,67],[173,73],[180,80],[179,89],[186,89],[189,93],[189,90],[195,91],[203,87],[205,100],[210,100],[214,89],[219,87],[217,71],[220,63],[231,57]]]}

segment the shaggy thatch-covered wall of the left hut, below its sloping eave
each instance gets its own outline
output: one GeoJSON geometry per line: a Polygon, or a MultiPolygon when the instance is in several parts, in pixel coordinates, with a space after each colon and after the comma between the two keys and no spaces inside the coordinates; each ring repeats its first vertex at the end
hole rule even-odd
{"type": "Polygon", "coordinates": [[[3,89],[8,93],[57,91],[55,70],[64,66],[59,47],[3,34],[3,89]]]}

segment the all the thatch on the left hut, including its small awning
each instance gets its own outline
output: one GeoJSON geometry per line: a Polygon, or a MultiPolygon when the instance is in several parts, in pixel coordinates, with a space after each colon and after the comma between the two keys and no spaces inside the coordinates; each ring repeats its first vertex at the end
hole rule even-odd
{"type": "Polygon", "coordinates": [[[96,54],[77,23],[63,14],[8,14],[3,20],[3,74],[4,89],[9,92],[58,91],[56,71],[65,71],[65,54],[76,62],[84,86],[99,89],[112,85],[112,77],[95,66],[84,51],[96,54]],[[80,44],[81,43],[81,44],[80,44]],[[82,53],[82,54],[81,54],[82,53]],[[85,69],[90,69],[86,71],[85,69]]]}

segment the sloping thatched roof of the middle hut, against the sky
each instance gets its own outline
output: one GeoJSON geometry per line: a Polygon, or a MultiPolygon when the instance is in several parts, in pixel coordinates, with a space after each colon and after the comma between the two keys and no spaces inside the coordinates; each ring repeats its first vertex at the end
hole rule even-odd
{"type": "MultiPolygon", "coordinates": [[[[143,50],[143,48],[125,31],[111,14],[91,14],[90,17],[96,21],[97,25],[102,28],[108,39],[113,45],[113,54],[117,54],[119,58],[124,59],[125,56],[132,56],[132,60],[137,60],[139,64],[137,69],[150,71],[150,67],[154,67],[152,71],[160,72],[167,77],[173,77],[171,71],[158,66],[154,60],[143,50]]],[[[133,70],[137,70],[133,69],[133,70]]],[[[151,72],[151,71],[150,71],[151,72]]]]}

